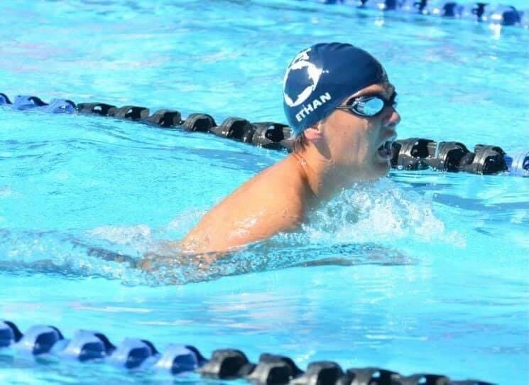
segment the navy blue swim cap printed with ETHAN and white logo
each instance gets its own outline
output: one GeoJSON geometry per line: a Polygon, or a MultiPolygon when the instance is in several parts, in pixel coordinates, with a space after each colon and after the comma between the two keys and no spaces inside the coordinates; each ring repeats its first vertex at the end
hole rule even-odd
{"type": "Polygon", "coordinates": [[[283,107],[295,134],[330,114],[349,95],[388,75],[378,60],[344,43],[320,43],[302,50],[285,72],[283,107]]]}

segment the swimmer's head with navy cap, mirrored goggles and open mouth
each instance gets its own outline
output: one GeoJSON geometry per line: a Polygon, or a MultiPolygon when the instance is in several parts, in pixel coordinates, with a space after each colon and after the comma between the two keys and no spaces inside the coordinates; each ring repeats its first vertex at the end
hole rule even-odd
{"type": "Polygon", "coordinates": [[[396,97],[382,65],[364,50],[328,43],[302,51],[284,87],[285,113],[298,136],[294,152],[325,167],[332,185],[387,175],[400,122],[396,97]]]}

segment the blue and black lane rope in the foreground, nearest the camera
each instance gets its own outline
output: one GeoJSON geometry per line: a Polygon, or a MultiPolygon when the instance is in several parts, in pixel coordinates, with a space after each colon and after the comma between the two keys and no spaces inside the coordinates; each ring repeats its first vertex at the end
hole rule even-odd
{"type": "MultiPolygon", "coordinates": [[[[0,355],[21,358],[99,362],[127,370],[154,370],[173,375],[200,374],[209,379],[246,379],[263,385],[491,385],[473,379],[453,381],[442,374],[412,374],[378,367],[342,369],[336,362],[319,361],[299,369],[293,359],[263,353],[252,363],[238,349],[217,349],[206,359],[192,345],[170,344],[162,351],[152,342],[125,338],[114,345],[102,332],[77,330],[67,339],[57,327],[34,325],[22,333],[11,321],[0,321],[0,355]]],[[[14,364],[16,362],[13,361],[14,364]]]]}

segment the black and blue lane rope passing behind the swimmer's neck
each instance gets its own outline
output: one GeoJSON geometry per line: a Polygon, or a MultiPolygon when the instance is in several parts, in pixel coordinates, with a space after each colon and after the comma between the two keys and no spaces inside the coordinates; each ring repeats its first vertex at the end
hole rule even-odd
{"type": "MultiPolygon", "coordinates": [[[[250,122],[231,116],[217,125],[213,116],[194,113],[182,120],[176,109],[160,109],[149,114],[147,107],[126,105],[116,107],[105,103],[79,103],[70,99],[43,102],[36,96],[18,95],[13,102],[0,93],[0,107],[18,111],[31,110],[51,114],[92,114],[116,119],[127,119],[158,126],[162,129],[182,129],[214,134],[263,148],[292,151],[295,137],[289,126],[273,121],[250,122]]],[[[410,138],[393,142],[392,168],[398,170],[433,169],[446,172],[465,172],[480,175],[529,176],[529,149],[507,154],[500,146],[477,144],[474,151],[457,141],[434,141],[410,138]]]]}

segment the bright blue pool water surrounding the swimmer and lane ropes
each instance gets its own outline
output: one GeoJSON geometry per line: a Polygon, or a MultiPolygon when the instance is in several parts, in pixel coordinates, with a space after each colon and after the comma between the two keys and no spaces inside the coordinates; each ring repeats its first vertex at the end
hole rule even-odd
{"type": "MultiPolygon", "coordinates": [[[[511,3],[513,4],[513,3],[511,3]]],[[[514,4],[518,5],[518,4],[514,4]]],[[[523,5],[523,4],[520,4],[523,5]]],[[[529,143],[529,45],[490,28],[310,1],[0,4],[0,92],[285,121],[301,48],[370,50],[396,85],[400,138],[529,143]]],[[[529,179],[393,171],[210,269],[139,259],[285,156],[212,135],[0,108],[0,318],[124,337],[527,384],[529,179]]],[[[241,202],[256,204],[258,202],[241,202]]],[[[102,364],[0,353],[13,384],[161,383],[102,364]]],[[[192,377],[192,382],[200,379],[192,377]]]]}

